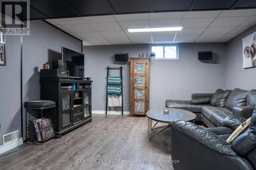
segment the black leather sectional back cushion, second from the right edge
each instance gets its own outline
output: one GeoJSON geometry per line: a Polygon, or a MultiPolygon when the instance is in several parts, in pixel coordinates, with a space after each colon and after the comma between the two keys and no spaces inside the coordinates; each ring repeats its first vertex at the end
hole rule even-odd
{"type": "Polygon", "coordinates": [[[246,106],[247,90],[235,88],[228,96],[225,107],[232,110],[236,106],[246,106]]]}

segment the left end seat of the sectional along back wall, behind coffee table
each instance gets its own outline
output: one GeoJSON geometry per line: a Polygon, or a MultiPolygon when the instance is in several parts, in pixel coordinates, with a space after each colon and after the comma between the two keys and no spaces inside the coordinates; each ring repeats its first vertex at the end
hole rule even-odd
{"type": "Polygon", "coordinates": [[[176,109],[184,109],[194,113],[201,113],[202,105],[192,105],[190,101],[182,101],[182,100],[166,100],[165,107],[166,108],[176,108],[176,109]]]}

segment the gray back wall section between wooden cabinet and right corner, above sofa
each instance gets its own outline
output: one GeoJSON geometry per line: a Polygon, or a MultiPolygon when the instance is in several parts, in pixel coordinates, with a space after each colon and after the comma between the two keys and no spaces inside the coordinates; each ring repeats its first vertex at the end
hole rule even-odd
{"type": "Polygon", "coordinates": [[[192,93],[225,88],[225,43],[181,43],[179,60],[151,62],[150,107],[165,100],[190,100],[192,93]],[[212,61],[199,61],[199,51],[212,51],[212,61]]]}

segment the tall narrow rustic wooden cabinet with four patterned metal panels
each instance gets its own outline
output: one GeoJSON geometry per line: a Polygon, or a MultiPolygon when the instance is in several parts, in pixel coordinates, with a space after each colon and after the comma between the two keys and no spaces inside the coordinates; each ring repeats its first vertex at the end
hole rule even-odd
{"type": "Polygon", "coordinates": [[[146,115],[149,109],[150,58],[130,58],[130,112],[146,115]]]}

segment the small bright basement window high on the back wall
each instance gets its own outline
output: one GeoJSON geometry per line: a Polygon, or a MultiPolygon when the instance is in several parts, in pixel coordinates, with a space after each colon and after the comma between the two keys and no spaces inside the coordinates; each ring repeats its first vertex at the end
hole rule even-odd
{"type": "Polygon", "coordinates": [[[151,45],[151,52],[156,54],[156,60],[178,60],[179,59],[179,45],[178,44],[164,44],[151,45]]]}

